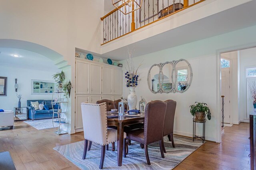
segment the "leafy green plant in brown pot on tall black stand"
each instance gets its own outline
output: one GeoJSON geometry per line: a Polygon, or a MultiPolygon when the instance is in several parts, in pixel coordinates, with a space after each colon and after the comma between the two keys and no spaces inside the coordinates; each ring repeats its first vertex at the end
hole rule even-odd
{"type": "Polygon", "coordinates": [[[208,120],[212,118],[211,111],[206,103],[195,102],[195,104],[189,107],[190,113],[192,114],[192,116],[194,116],[195,121],[204,121],[205,115],[207,115],[208,120]]]}

